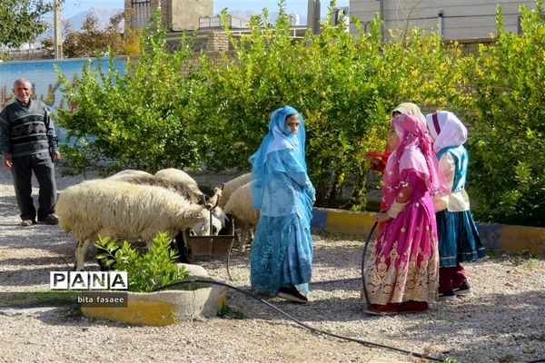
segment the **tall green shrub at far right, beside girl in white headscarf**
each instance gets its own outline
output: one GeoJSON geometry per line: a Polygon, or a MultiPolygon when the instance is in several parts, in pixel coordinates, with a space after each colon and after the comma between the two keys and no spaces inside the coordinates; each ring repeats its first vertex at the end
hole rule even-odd
{"type": "MultiPolygon", "coordinates": [[[[524,34],[502,30],[498,41],[481,46],[468,63],[474,84],[470,195],[480,221],[545,226],[545,22],[537,10],[521,7],[524,34]]],[[[470,113],[469,113],[470,114],[470,113]]]]}

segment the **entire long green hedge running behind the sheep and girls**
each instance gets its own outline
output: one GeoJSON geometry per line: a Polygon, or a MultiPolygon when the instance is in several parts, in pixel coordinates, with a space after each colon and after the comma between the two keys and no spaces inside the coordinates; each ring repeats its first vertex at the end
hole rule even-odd
{"type": "Polygon", "coordinates": [[[266,10],[254,16],[251,34],[230,34],[233,56],[213,63],[202,54],[189,74],[180,70],[188,64],[192,39],[183,36],[181,50],[169,53],[155,17],[142,40],[144,53],[128,64],[126,75],[89,67],[75,88],[64,79],[64,92],[78,108],[61,112],[59,123],[84,140],[83,148],[64,146],[74,170],[103,158],[115,161],[112,169],[154,172],[205,164],[248,170],[271,112],[291,104],[307,124],[318,205],[339,207],[348,190],[352,198],[342,207],[361,210],[369,170],[365,152],[383,148],[389,111],[411,101],[448,108],[471,123],[468,189],[481,220],[531,215],[525,222],[543,225],[540,1],[538,11],[521,10],[525,34],[500,31],[498,43],[482,47],[478,56],[462,56],[457,44],[418,29],[391,34],[393,41],[382,44],[378,19],[369,33],[356,24],[353,36],[343,24],[328,25],[331,14],[320,34],[293,40],[283,3],[275,25],[264,20],[266,10]],[[349,176],[355,178],[351,185],[349,176]],[[540,210],[540,221],[527,201],[533,201],[532,211],[540,210]]]}

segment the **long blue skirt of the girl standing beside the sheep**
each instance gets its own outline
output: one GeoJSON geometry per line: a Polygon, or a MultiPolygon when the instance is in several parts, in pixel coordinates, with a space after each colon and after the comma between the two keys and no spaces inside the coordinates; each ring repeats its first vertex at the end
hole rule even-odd
{"type": "Polygon", "coordinates": [[[250,254],[252,289],[275,295],[279,288],[295,285],[306,295],[312,275],[312,253],[310,221],[297,213],[261,216],[250,254]]]}

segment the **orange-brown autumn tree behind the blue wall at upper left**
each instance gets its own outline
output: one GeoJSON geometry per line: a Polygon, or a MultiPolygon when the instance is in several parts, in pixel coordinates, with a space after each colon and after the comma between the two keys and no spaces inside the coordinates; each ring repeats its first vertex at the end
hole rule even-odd
{"type": "MultiPolygon", "coordinates": [[[[93,14],[87,15],[81,32],[76,32],[68,26],[64,30],[64,56],[66,58],[93,57],[110,52],[116,55],[139,54],[141,31],[128,29],[125,34],[122,34],[120,24],[123,18],[124,13],[112,16],[104,30],[98,28],[98,19],[93,14]]],[[[42,44],[47,49],[47,54],[54,54],[53,39],[45,39],[42,44]]]]}

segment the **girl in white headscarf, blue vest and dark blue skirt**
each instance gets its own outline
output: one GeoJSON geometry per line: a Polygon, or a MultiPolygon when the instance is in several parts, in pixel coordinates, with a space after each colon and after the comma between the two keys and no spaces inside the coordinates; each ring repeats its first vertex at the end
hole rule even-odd
{"type": "Polygon", "coordinates": [[[441,111],[426,116],[433,149],[451,193],[437,201],[435,210],[439,237],[439,299],[456,299],[471,292],[461,262],[486,256],[465,191],[468,152],[463,147],[468,132],[454,113],[441,111]],[[442,204],[442,205],[441,205],[442,204]]]}

